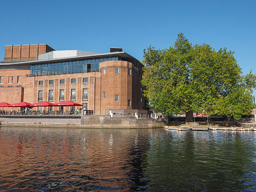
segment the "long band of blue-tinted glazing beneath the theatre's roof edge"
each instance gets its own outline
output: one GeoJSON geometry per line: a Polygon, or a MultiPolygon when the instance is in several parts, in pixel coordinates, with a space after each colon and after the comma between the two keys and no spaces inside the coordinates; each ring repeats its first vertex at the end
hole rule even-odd
{"type": "Polygon", "coordinates": [[[30,66],[30,75],[44,76],[54,74],[87,73],[99,70],[101,62],[113,60],[125,61],[125,59],[121,57],[112,56],[84,59],[79,61],[59,61],[44,64],[36,64],[30,66]]]}

